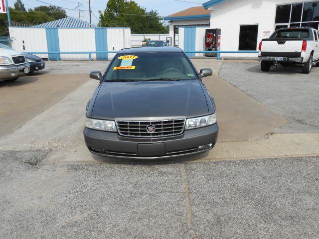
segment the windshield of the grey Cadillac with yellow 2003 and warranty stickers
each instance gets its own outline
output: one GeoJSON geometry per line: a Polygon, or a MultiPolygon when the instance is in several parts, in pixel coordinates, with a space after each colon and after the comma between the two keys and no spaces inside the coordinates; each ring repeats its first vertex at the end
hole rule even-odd
{"type": "Polygon", "coordinates": [[[104,81],[186,79],[198,76],[182,52],[117,54],[104,77],[104,81]]]}

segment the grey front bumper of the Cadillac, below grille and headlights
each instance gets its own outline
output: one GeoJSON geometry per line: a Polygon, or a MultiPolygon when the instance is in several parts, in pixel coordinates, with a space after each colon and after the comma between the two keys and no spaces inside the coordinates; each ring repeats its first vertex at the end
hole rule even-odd
{"type": "Polygon", "coordinates": [[[182,134],[162,138],[132,138],[117,132],[84,128],[84,140],[95,154],[117,158],[157,159],[202,153],[213,148],[217,141],[217,123],[182,134]],[[208,144],[211,144],[210,146],[208,144]],[[207,145],[199,148],[199,146],[207,145]]]}

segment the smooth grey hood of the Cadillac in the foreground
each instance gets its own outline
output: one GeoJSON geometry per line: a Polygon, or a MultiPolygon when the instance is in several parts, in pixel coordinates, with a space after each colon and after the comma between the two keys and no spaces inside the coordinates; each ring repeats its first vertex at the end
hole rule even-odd
{"type": "Polygon", "coordinates": [[[182,119],[208,115],[199,80],[103,82],[92,110],[95,119],[182,119]]]}

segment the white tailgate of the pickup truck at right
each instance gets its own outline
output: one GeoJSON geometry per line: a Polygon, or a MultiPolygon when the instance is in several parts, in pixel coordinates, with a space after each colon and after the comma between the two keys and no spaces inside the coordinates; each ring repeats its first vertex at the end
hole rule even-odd
{"type": "MultiPolygon", "coordinates": [[[[294,55],[301,55],[303,47],[303,39],[263,39],[261,54],[262,55],[274,55],[277,52],[281,53],[278,56],[284,56],[284,53],[294,53],[294,55]],[[268,53],[268,54],[267,54],[268,53]]],[[[288,56],[287,55],[287,56],[288,56]]]]}

